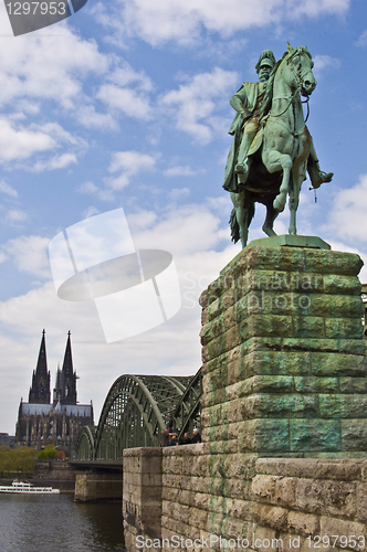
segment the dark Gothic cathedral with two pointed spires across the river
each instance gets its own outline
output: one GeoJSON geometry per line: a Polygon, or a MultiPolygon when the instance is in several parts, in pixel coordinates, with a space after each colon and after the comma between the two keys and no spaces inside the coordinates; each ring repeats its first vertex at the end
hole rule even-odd
{"type": "Polygon", "coordinates": [[[21,400],[18,414],[15,442],[22,445],[42,448],[46,444],[66,448],[77,443],[78,434],[84,425],[93,425],[93,406],[77,404],[77,375],[73,369],[71,333],[67,333],[66,349],[62,370],[56,372],[53,390],[53,402],[50,393],[50,372],[48,371],[45,331],[39,360],[32,375],[29,402],[21,400]]]}

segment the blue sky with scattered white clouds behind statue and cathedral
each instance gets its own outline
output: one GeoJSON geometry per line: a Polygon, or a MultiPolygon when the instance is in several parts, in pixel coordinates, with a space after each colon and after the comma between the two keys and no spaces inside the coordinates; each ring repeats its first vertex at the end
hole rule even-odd
{"type": "MultiPolygon", "coordinates": [[[[78,399],[95,421],[123,373],[200,368],[200,291],[240,251],[222,190],[234,112],[264,49],[306,45],[317,87],[307,123],[334,180],[304,183],[298,234],[367,261],[364,0],[88,0],[50,28],[12,36],[0,4],[0,431],[28,400],[42,329],[54,385],[72,331],[78,399]],[[93,304],[57,298],[48,245],[87,216],[124,208],[136,247],[169,251],[182,308],[106,344],[93,304]]],[[[262,237],[260,206],[250,240],[262,237]]],[[[289,211],[275,223],[286,233],[289,211]]],[[[361,272],[367,282],[367,270],[361,272]]]]}

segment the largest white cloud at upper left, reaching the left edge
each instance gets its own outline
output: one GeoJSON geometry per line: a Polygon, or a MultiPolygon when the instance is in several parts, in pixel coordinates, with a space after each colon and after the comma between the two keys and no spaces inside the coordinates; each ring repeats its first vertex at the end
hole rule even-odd
{"type": "MultiPolygon", "coordinates": [[[[1,17],[8,19],[3,4],[1,17]]],[[[44,108],[56,103],[88,129],[118,130],[116,117],[99,113],[96,99],[112,112],[138,119],[151,117],[149,77],[124,60],[99,52],[93,39],[82,39],[67,22],[57,23],[57,35],[39,32],[1,49],[0,79],[0,106],[17,106],[18,117],[38,114],[40,104],[44,108]],[[92,88],[88,77],[101,76],[105,84],[92,88]]]]}

